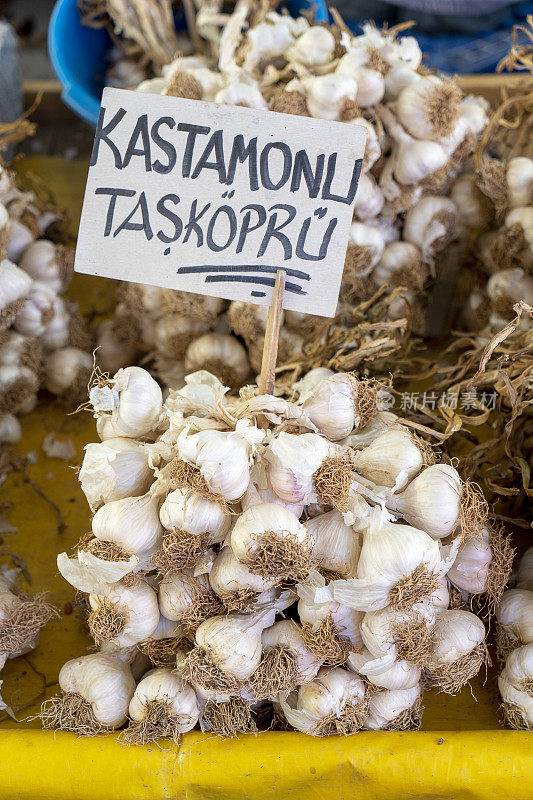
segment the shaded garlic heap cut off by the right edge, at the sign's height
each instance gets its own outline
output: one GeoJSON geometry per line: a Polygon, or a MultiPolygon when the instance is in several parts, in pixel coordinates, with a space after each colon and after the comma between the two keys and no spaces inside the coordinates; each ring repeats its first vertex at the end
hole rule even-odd
{"type": "MultiPolygon", "coordinates": [[[[463,319],[470,329],[494,332],[515,317],[515,303],[533,306],[533,159],[486,157],[477,181],[468,176],[468,190],[467,176],[459,180],[465,198],[466,191],[476,197],[482,231],[476,243],[480,274],[474,275],[477,285],[466,299],[463,319]]],[[[454,192],[452,197],[466,219],[466,199],[462,207],[454,192]]],[[[529,325],[524,316],[521,326],[529,325]]]]}

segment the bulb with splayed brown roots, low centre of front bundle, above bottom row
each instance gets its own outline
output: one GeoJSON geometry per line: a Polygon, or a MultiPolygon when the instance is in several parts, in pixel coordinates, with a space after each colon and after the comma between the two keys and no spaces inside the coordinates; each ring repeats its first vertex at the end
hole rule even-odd
{"type": "Polygon", "coordinates": [[[273,700],[309,683],[325,660],[307,646],[301,626],[290,619],[265,628],[261,647],[261,660],[248,683],[256,700],[273,700]]]}

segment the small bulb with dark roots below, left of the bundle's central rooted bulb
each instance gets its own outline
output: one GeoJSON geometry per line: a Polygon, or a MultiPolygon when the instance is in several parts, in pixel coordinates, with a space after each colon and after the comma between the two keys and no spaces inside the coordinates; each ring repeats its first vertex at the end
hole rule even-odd
{"type": "Polygon", "coordinates": [[[276,579],[250,572],[236,558],[231,547],[223,547],[209,572],[209,583],[228,611],[245,611],[269,596],[276,579]]]}

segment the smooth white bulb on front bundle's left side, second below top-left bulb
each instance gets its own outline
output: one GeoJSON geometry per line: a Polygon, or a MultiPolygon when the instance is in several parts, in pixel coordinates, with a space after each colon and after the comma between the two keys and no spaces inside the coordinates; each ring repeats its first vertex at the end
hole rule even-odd
{"type": "Polygon", "coordinates": [[[150,493],[112,500],[98,509],[92,530],[97,539],[114,542],[128,553],[153,553],[160,546],[163,534],[159,500],[150,493]]]}

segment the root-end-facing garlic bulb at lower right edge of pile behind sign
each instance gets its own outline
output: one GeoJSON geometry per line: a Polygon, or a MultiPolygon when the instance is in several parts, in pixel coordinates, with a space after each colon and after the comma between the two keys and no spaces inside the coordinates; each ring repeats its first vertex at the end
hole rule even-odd
{"type": "Polygon", "coordinates": [[[423,260],[431,263],[436,253],[459,237],[460,227],[457,207],[452,200],[426,195],[407,212],[403,238],[415,244],[423,260]]]}

